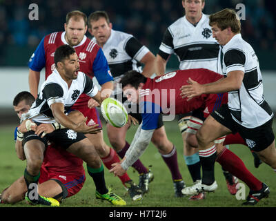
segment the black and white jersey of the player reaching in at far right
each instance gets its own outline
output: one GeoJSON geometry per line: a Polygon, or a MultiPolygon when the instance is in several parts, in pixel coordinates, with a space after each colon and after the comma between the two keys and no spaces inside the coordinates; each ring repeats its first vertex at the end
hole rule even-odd
{"type": "Polygon", "coordinates": [[[242,35],[235,35],[222,48],[223,73],[242,70],[244,79],[239,90],[228,92],[228,107],[233,119],[246,128],[255,128],[273,117],[264,99],[262,73],[253,48],[242,35]]]}

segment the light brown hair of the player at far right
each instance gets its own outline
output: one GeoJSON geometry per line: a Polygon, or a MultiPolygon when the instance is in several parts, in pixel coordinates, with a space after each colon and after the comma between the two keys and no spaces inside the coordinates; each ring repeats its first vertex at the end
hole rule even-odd
{"type": "Polygon", "coordinates": [[[235,34],[241,32],[241,21],[239,21],[239,17],[233,9],[226,8],[210,15],[209,25],[213,26],[215,24],[221,30],[230,27],[235,34]]]}

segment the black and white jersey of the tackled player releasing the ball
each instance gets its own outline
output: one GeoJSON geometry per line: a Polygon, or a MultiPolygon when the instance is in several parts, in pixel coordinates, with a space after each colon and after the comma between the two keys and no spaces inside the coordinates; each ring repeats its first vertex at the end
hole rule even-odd
{"type": "Polygon", "coordinates": [[[50,106],[55,103],[62,103],[65,111],[68,111],[82,93],[86,93],[90,97],[94,97],[98,93],[97,86],[88,75],[79,71],[77,79],[73,79],[70,88],[68,88],[66,81],[55,69],[41,85],[39,95],[32,104],[30,111],[22,117],[39,123],[54,123],[55,119],[50,106]]]}

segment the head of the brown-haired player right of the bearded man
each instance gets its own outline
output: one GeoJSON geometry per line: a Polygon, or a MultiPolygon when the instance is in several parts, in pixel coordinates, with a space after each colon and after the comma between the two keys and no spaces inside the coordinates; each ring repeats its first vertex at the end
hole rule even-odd
{"type": "Polygon", "coordinates": [[[88,32],[94,36],[99,46],[103,46],[111,35],[112,23],[105,11],[92,12],[88,17],[88,32]]]}

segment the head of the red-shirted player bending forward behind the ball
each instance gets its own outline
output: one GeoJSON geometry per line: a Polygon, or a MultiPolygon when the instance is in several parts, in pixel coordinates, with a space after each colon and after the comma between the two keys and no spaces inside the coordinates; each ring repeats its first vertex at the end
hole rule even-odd
{"type": "Polygon", "coordinates": [[[124,95],[129,102],[137,103],[139,100],[139,90],[143,88],[147,78],[136,70],[129,70],[124,77],[121,78],[120,84],[124,95]]]}

